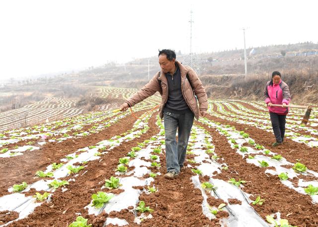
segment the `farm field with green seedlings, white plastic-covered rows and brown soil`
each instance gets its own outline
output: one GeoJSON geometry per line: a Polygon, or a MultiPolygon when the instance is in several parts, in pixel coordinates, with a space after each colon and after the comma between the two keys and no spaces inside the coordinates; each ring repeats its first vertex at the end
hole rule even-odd
{"type": "MultiPolygon", "coordinates": [[[[114,99],[135,91],[100,88],[114,99]]],[[[304,110],[291,110],[283,145],[272,147],[263,102],[209,100],[175,180],[162,176],[157,110],[136,119],[110,108],[0,132],[1,227],[317,227],[316,108],[307,125],[304,110]]]]}

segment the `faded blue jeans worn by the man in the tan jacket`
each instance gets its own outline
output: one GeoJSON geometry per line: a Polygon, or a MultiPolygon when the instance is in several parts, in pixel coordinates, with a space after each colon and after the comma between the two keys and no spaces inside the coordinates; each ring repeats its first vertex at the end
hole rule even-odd
{"type": "Polygon", "coordinates": [[[186,112],[182,114],[163,111],[165,131],[165,162],[167,172],[180,172],[187,151],[188,141],[193,125],[194,114],[186,112]],[[178,129],[178,143],[176,131],[178,129]]]}

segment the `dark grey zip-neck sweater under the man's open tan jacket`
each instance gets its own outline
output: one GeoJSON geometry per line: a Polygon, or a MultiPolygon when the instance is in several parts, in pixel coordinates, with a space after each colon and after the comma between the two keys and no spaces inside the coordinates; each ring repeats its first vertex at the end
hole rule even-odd
{"type": "Polygon", "coordinates": [[[191,111],[185,102],[181,91],[181,73],[176,65],[176,71],[171,76],[167,73],[165,76],[168,81],[168,99],[163,110],[171,113],[185,113],[191,111]]]}

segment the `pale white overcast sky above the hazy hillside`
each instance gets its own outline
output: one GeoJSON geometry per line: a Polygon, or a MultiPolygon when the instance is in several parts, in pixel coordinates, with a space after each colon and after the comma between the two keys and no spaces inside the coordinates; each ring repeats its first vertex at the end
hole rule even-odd
{"type": "Polygon", "coordinates": [[[0,79],[123,63],[158,49],[318,42],[318,0],[1,0],[0,79]]]}

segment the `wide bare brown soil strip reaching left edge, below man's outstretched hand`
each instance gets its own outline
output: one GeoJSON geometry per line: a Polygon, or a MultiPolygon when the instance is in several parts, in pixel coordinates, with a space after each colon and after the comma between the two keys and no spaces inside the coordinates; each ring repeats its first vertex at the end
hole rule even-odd
{"type": "MultiPolygon", "coordinates": [[[[138,113],[142,114],[142,112],[143,111],[140,111],[138,113]]],[[[33,177],[37,170],[44,170],[53,162],[60,163],[60,159],[67,154],[126,132],[132,128],[135,121],[136,119],[129,115],[121,119],[117,124],[97,134],[68,139],[62,143],[48,143],[43,145],[40,150],[26,151],[20,156],[1,158],[0,196],[8,194],[7,188],[13,184],[20,184],[22,181],[26,181],[28,184],[35,182],[37,179],[33,177]],[[121,127],[119,127],[119,125],[121,127]]]]}

